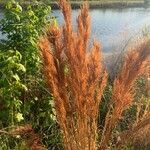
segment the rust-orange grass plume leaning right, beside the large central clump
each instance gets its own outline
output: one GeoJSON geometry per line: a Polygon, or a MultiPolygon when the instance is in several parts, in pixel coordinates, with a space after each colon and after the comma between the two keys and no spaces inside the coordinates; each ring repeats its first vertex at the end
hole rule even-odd
{"type": "Polygon", "coordinates": [[[106,149],[111,138],[113,129],[122,113],[133,102],[134,82],[143,74],[145,66],[150,58],[150,39],[142,41],[135,49],[131,49],[123,64],[120,74],[116,77],[113,85],[112,100],[114,108],[108,113],[105,123],[100,149],[106,149]]]}

